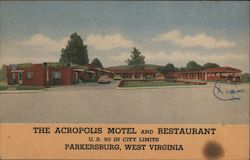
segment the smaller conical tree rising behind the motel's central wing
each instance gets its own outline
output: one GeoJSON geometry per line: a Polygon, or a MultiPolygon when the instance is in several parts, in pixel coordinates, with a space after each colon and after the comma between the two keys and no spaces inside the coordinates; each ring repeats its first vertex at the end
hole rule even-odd
{"type": "Polygon", "coordinates": [[[127,59],[126,63],[128,63],[128,65],[145,64],[144,59],[145,57],[141,55],[141,52],[134,47],[133,51],[131,52],[130,59],[127,59]]]}

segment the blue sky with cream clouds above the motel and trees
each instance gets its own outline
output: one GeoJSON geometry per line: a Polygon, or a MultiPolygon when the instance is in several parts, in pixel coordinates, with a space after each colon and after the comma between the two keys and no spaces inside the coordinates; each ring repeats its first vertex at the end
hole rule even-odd
{"type": "Polygon", "coordinates": [[[247,1],[1,1],[0,64],[58,62],[75,32],[105,67],[126,64],[136,47],[148,64],[249,72],[247,1]]]}

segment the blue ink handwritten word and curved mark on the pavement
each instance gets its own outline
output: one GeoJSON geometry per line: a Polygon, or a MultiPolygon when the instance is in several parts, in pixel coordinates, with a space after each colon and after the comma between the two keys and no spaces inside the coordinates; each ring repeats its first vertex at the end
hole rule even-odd
{"type": "MultiPolygon", "coordinates": [[[[235,87],[235,85],[232,85],[235,87]]],[[[240,100],[240,93],[245,92],[245,89],[226,89],[219,85],[218,81],[215,82],[213,87],[214,96],[223,101],[240,100]]]]}

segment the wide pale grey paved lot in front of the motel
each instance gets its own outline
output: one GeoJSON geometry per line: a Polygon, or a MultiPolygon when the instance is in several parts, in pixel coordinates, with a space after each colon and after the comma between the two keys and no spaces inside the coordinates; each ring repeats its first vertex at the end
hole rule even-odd
{"type": "Polygon", "coordinates": [[[86,83],[33,93],[0,94],[2,123],[248,124],[249,88],[221,101],[212,86],[117,89],[86,83]]]}

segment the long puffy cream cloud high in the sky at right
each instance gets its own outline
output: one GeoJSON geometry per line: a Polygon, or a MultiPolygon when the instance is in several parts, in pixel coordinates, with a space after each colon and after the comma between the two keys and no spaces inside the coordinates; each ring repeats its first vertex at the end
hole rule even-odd
{"type": "Polygon", "coordinates": [[[231,48],[236,45],[235,42],[230,42],[225,39],[216,40],[214,37],[205,33],[198,33],[195,35],[182,35],[180,31],[173,30],[152,39],[155,42],[170,41],[179,47],[203,47],[211,48],[231,48]]]}

